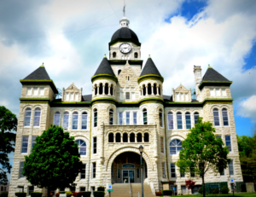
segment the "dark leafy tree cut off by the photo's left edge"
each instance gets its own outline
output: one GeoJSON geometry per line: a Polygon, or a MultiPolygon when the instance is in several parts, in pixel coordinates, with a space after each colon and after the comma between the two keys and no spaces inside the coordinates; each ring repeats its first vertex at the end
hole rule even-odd
{"type": "Polygon", "coordinates": [[[17,118],[6,107],[0,106],[0,183],[8,183],[7,172],[12,166],[9,164],[8,154],[15,151],[15,137],[17,118]]]}

